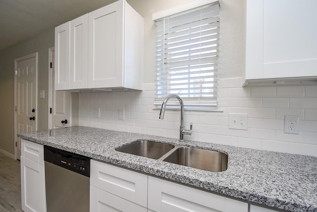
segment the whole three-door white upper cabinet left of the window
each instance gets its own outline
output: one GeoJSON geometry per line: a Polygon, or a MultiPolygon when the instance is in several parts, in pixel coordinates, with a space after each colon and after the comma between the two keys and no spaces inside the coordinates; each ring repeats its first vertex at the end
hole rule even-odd
{"type": "MultiPolygon", "coordinates": [[[[57,66],[55,75],[57,82],[69,83],[56,86],[56,90],[142,90],[144,19],[125,0],[76,18],[69,27],[69,72],[57,66]]],[[[60,37],[55,32],[57,50],[65,48],[59,46],[64,45],[60,37]]]]}

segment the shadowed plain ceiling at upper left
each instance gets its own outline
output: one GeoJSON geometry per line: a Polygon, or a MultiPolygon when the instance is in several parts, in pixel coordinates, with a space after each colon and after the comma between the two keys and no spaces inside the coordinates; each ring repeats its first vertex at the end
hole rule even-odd
{"type": "Polygon", "coordinates": [[[0,51],[116,0],[0,0],[0,51]]]}

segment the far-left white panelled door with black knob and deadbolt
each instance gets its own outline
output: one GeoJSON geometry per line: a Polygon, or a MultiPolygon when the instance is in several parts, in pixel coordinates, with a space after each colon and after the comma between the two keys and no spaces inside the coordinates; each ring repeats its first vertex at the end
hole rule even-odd
{"type": "Polygon", "coordinates": [[[15,67],[15,155],[20,159],[21,138],[16,133],[37,130],[38,53],[14,60],[15,67]]]}

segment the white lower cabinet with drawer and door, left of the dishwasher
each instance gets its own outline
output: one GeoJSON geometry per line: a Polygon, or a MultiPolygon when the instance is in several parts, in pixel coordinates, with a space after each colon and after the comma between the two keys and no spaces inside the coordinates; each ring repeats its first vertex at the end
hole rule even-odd
{"type": "Polygon", "coordinates": [[[24,212],[46,212],[44,147],[22,140],[21,206],[24,212]]]}

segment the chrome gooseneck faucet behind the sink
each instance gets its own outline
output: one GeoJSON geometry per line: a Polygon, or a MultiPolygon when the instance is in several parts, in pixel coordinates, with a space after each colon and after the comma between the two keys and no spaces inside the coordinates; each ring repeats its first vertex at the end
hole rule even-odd
{"type": "Polygon", "coordinates": [[[183,141],[184,140],[184,135],[192,135],[193,123],[190,123],[190,130],[185,130],[184,129],[184,103],[183,103],[183,100],[180,98],[180,96],[178,96],[176,94],[170,94],[164,99],[162,107],[161,107],[160,112],[159,112],[159,119],[163,119],[164,118],[166,103],[172,97],[176,98],[179,101],[179,103],[180,103],[179,140],[183,141]]]}

